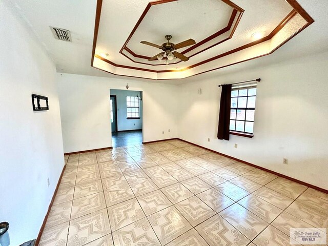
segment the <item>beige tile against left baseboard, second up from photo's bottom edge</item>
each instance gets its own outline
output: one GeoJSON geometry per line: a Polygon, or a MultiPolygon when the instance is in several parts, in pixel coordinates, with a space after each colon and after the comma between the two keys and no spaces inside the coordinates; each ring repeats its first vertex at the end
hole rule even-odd
{"type": "Polygon", "coordinates": [[[72,202],[73,201],[67,201],[59,203],[57,205],[53,205],[50,209],[46,226],[54,227],[58,224],[69,221],[72,210],[72,202]]]}

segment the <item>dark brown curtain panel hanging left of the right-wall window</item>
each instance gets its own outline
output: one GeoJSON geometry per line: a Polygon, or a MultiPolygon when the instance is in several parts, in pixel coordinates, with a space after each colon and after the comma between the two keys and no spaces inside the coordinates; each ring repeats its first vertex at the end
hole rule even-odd
{"type": "Polygon", "coordinates": [[[232,85],[222,85],[221,100],[220,100],[219,127],[217,130],[217,138],[218,139],[229,140],[231,87],[232,87],[232,85]]]}

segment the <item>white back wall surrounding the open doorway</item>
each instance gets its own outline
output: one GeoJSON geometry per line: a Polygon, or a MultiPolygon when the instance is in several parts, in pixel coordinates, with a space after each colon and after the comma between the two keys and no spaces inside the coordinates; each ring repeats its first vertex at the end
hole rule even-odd
{"type": "Polygon", "coordinates": [[[144,142],[177,137],[175,85],[66,73],[58,73],[57,83],[65,153],[112,146],[110,89],[126,90],[127,83],[142,91],[144,142]]]}

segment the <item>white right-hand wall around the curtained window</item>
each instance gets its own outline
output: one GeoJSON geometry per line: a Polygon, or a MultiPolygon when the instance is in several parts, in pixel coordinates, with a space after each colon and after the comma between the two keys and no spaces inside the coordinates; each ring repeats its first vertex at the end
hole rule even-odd
{"type": "MultiPolygon", "coordinates": [[[[200,76],[199,82],[182,85],[179,138],[328,189],[327,57],[325,52],[250,69],[243,63],[235,65],[233,73],[212,79],[200,76]],[[254,137],[218,140],[218,85],[258,77],[262,81],[257,87],[254,137]],[[282,158],[288,158],[288,165],[282,158]]],[[[267,63],[271,58],[259,59],[267,63]]]]}

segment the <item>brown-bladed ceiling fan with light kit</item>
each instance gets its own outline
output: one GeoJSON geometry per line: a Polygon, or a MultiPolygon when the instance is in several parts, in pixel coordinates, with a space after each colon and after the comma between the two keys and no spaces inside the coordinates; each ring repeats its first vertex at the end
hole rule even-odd
{"type": "Polygon", "coordinates": [[[181,53],[179,53],[177,51],[174,51],[174,50],[181,49],[183,47],[187,47],[187,46],[196,44],[194,39],[190,38],[186,41],[183,41],[183,42],[178,43],[178,44],[175,45],[173,43],[170,43],[170,39],[172,38],[171,35],[166,35],[165,38],[168,40],[168,42],[162,44],[161,46],[160,45],[155,45],[155,44],[147,42],[147,41],[141,41],[140,42],[141,44],[150,45],[150,46],[156,47],[156,48],[161,49],[162,51],[164,51],[164,52],[161,52],[157,55],[154,55],[153,57],[149,58],[148,60],[156,60],[156,59],[161,60],[165,57],[168,60],[173,60],[175,57],[179,58],[183,61],[189,60],[189,58],[187,56],[182,55],[181,53]]]}

